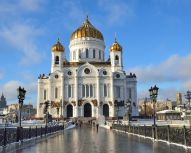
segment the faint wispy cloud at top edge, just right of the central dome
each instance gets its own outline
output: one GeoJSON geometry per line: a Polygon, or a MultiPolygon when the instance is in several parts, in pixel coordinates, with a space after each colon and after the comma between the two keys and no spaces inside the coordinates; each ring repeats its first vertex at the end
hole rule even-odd
{"type": "Polygon", "coordinates": [[[135,15],[133,6],[124,1],[98,0],[98,5],[105,12],[109,24],[122,24],[135,15]]]}

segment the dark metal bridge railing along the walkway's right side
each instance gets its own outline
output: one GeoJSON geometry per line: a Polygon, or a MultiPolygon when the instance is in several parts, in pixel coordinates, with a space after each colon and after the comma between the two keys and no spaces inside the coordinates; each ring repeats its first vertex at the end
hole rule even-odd
{"type": "Polygon", "coordinates": [[[190,127],[170,127],[170,126],[132,126],[113,124],[112,129],[156,140],[164,140],[172,143],[191,146],[191,128],[190,127]]]}

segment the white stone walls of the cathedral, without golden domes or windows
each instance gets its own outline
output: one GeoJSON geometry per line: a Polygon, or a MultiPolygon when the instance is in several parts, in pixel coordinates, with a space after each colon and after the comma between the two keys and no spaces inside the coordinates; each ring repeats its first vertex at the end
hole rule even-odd
{"type": "MultiPolygon", "coordinates": [[[[92,117],[98,117],[103,115],[103,105],[109,106],[109,117],[116,116],[116,109],[114,107],[115,100],[124,101],[131,100],[132,102],[132,115],[138,115],[137,111],[137,82],[136,78],[128,78],[123,71],[122,55],[121,52],[111,52],[111,65],[107,64],[90,64],[88,62],[104,62],[105,45],[101,40],[94,38],[79,38],[79,40],[72,40],[69,45],[70,48],[70,62],[85,61],[86,63],[79,66],[63,67],[64,53],[53,52],[52,53],[52,66],[51,74],[47,79],[41,78],[38,80],[38,97],[37,97],[37,117],[43,117],[43,108],[40,107],[40,103],[44,103],[46,100],[60,102],[62,101],[62,108],[59,115],[67,117],[67,106],[72,105],[73,117],[84,116],[84,105],[86,103],[91,104],[92,117]],[[85,58],[85,49],[89,49],[89,58],[85,58]],[[79,58],[78,50],[82,50],[81,58],[79,58]],[[96,57],[92,58],[92,49],[96,49],[96,57]],[[101,59],[99,53],[101,51],[101,59]],[[76,51],[76,58],[73,53],[76,51]],[[119,56],[119,64],[115,65],[114,56],[119,56]],[[55,56],[60,57],[59,65],[54,64],[55,56]],[[84,70],[88,68],[89,74],[84,73],[84,70]],[[103,72],[107,74],[104,75],[103,72]],[[71,72],[71,75],[69,75],[71,72]],[[119,77],[117,77],[119,75],[119,77]],[[56,77],[57,76],[57,77],[56,77]],[[68,97],[68,87],[71,86],[71,97],[68,97]],[[92,97],[82,97],[82,86],[93,85],[94,93],[92,97]],[[104,85],[107,86],[107,96],[104,95],[104,85]],[[58,93],[55,97],[55,89],[58,93]],[[117,97],[116,89],[120,89],[120,97],[117,97]],[[44,98],[44,90],[46,90],[46,99],[44,98]],[[129,94],[131,92],[131,94],[129,94]],[[82,106],[78,106],[78,100],[84,100],[82,106]],[[94,106],[92,100],[97,100],[98,106],[94,106]],[[76,106],[72,102],[76,102],[76,106]],[[67,102],[67,105],[64,105],[67,102]],[[62,110],[62,111],[61,111],[62,110]]],[[[120,107],[118,116],[124,116],[127,112],[126,108],[120,107]]],[[[56,108],[49,107],[49,113],[53,117],[57,117],[56,108]]]]}

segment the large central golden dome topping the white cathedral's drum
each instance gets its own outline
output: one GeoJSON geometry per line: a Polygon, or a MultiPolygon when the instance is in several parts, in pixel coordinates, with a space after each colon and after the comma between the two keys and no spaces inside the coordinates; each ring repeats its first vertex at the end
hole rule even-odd
{"type": "Polygon", "coordinates": [[[86,17],[83,25],[72,33],[70,41],[82,37],[92,37],[104,40],[102,33],[89,22],[88,16],[86,17]]]}

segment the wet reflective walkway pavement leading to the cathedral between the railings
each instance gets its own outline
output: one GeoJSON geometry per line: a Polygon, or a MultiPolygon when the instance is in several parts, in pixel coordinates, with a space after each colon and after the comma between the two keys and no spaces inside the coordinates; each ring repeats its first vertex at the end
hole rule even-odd
{"type": "Polygon", "coordinates": [[[90,126],[70,129],[17,153],[190,153],[180,147],[90,126]]]}

